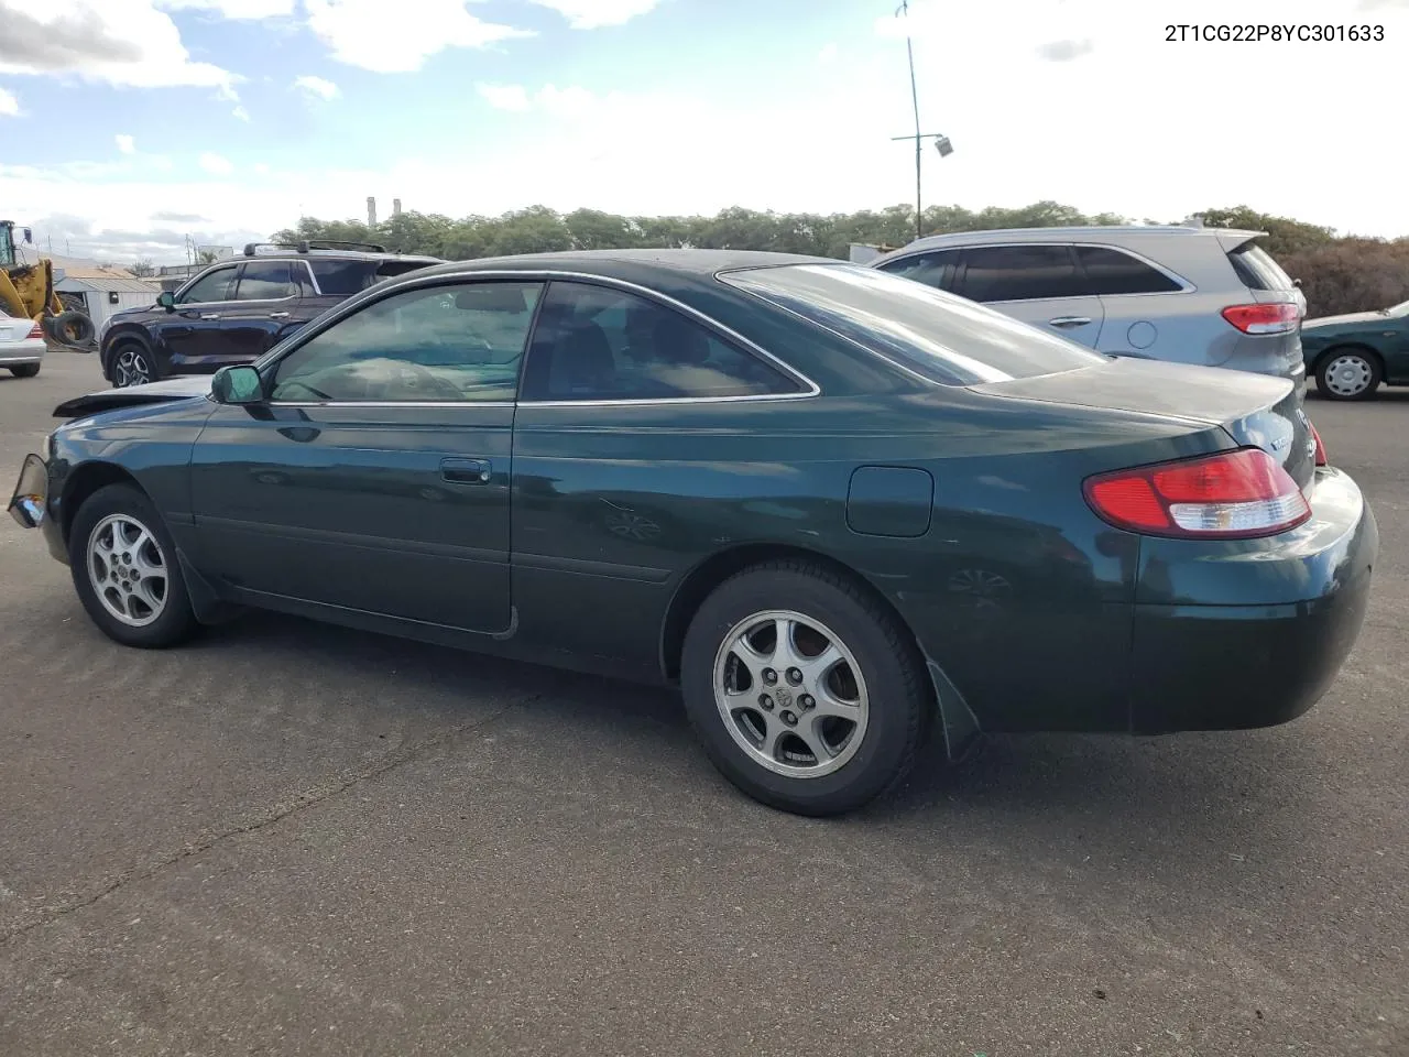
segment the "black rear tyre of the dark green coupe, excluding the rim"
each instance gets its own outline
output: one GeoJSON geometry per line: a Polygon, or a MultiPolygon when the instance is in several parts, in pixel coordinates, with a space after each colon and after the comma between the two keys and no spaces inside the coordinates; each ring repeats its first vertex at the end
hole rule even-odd
{"type": "MultiPolygon", "coordinates": [[[[847,667],[850,662],[843,669],[847,667]]],[[[914,765],[934,715],[924,662],[909,631],[857,583],[800,560],[744,569],[704,599],[685,634],[681,689],[704,753],[726,778],[762,803],[809,816],[843,815],[892,792],[914,765]],[[800,777],[769,769],[757,748],[751,754],[735,740],[731,726],[745,738],[750,734],[738,719],[726,719],[716,700],[716,661],[726,638],[740,622],[768,610],[790,610],[824,626],[859,668],[867,700],[864,734],[855,747],[847,741],[840,755],[851,753],[850,758],[830,774],[800,777]]],[[[789,695],[800,700],[796,688],[789,695]]],[[[775,707],[771,699],[769,712],[775,707]]],[[[752,712],[754,720],[762,717],[762,712],[752,712]]],[[[806,715],[800,712],[802,719],[806,715]]],[[[852,736],[858,729],[850,727],[852,736]]],[[[789,736],[785,731],[783,737],[789,736]]],[[[812,758],[820,762],[817,754],[812,758]]],[[[788,762],[776,754],[771,760],[788,762]]]]}

